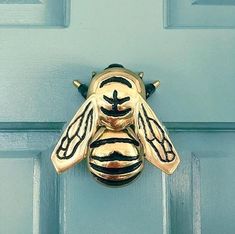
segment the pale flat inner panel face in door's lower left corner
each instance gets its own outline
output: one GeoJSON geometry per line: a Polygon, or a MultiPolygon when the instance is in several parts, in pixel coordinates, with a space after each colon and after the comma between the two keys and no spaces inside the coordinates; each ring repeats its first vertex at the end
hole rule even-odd
{"type": "MultiPolygon", "coordinates": [[[[6,153],[3,154],[0,163],[2,168],[0,175],[2,179],[0,232],[30,233],[33,226],[31,202],[33,197],[34,159],[27,156],[19,158],[17,152],[12,154],[11,156],[6,153]],[[16,158],[12,158],[14,156],[16,158]],[[12,220],[17,220],[18,225],[11,225],[12,220]]],[[[38,177],[38,175],[35,176],[38,177]]]]}

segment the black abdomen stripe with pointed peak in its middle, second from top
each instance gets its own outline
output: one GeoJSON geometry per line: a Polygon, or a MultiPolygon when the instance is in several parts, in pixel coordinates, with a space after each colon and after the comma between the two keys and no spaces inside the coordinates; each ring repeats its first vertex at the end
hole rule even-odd
{"type": "Polygon", "coordinates": [[[116,151],[111,153],[109,156],[91,156],[91,159],[100,162],[111,162],[111,161],[134,161],[137,160],[139,156],[124,156],[116,151]]]}

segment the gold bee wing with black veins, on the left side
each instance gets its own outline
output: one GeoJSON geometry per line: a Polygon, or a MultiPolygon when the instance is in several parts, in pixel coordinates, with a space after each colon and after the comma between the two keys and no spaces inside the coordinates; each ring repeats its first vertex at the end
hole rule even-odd
{"type": "Polygon", "coordinates": [[[86,157],[88,143],[97,128],[95,97],[90,96],[77,111],[51,155],[57,172],[63,172],[86,157]]]}

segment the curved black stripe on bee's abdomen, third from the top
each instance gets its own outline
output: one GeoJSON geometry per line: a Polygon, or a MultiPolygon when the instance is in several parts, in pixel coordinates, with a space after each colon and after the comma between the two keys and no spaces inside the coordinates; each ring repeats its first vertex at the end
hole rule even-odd
{"type": "Polygon", "coordinates": [[[139,162],[134,163],[133,165],[130,165],[128,167],[120,167],[120,168],[101,167],[101,166],[98,166],[94,163],[90,163],[90,166],[94,170],[105,173],[105,174],[120,175],[120,174],[125,174],[125,173],[129,173],[129,172],[136,170],[137,168],[140,167],[141,164],[142,164],[142,161],[139,161],[139,162]]]}

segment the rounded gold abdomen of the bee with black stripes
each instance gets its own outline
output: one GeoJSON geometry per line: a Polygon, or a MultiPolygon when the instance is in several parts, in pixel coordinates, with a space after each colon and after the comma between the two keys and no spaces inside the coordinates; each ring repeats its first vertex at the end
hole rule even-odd
{"type": "Polygon", "coordinates": [[[104,184],[119,186],[135,179],[143,169],[139,141],[127,131],[105,130],[90,144],[88,167],[104,184]]]}

